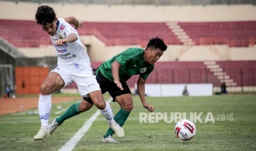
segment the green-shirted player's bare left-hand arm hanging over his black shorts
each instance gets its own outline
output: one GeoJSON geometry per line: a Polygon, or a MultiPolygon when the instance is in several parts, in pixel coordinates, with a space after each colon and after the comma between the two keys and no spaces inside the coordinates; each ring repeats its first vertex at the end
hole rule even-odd
{"type": "Polygon", "coordinates": [[[111,72],[114,78],[114,83],[117,85],[118,88],[123,90],[122,83],[120,82],[120,79],[119,79],[119,68],[121,68],[121,64],[115,60],[111,64],[111,72]]]}

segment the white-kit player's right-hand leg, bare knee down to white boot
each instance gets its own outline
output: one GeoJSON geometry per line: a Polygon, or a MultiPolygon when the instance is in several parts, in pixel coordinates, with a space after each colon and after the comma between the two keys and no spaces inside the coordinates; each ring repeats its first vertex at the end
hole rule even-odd
{"type": "Polygon", "coordinates": [[[92,91],[89,93],[89,96],[94,105],[100,109],[101,114],[106,118],[108,125],[110,125],[110,129],[115,131],[117,137],[123,137],[123,128],[113,120],[113,112],[110,104],[104,101],[101,91],[92,91]]]}

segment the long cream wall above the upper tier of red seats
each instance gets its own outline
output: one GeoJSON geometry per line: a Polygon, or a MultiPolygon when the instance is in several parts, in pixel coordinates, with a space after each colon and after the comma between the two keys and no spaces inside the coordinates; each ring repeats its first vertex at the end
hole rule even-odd
{"type": "Polygon", "coordinates": [[[50,5],[59,18],[82,21],[168,22],[256,20],[254,5],[85,5],[0,1],[0,19],[34,20],[39,5],[50,5]],[[10,8],[11,11],[10,11],[10,8]],[[25,11],[24,11],[25,10],[25,11]]]}

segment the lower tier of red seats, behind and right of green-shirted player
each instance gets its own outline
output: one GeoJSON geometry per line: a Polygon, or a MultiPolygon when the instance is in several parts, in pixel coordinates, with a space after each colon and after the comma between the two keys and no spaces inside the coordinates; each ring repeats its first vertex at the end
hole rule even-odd
{"type": "MultiPolygon", "coordinates": [[[[256,61],[217,61],[217,65],[229,75],[235,86],[256,85],[256,61]]],[[[129,86],[137,83],[138,75],[128,80],[129,86]]],[[[217,78],[203,62],[156,62],[155,69],[149,75],[147,83],[160,84],[188,84],[188,83],[213,83],[221,85],[217,78]]]]}

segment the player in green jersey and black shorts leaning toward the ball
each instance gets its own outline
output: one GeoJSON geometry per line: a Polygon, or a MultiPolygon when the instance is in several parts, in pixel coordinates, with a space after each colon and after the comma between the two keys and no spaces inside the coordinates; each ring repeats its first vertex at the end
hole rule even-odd
{"type": "MultiPolygon", "coordinates": [[[[154,69],[154,63],[160,59],[166,49],[167,46],[164,40],[155,37],[149,40],[146,49],[129,48],[97,68],[96,79],[100,84],[102,94],[109,92],[113,101],[118,102],[121,107],[114,117],[114,120],[120,126],[124,125],[133,109],[132,92],[130,92],[126,83],[132,75],[140,74],[137,82],[140,100],[149,112],[154,111],[154,107],[146,102],[145,83],[154,69]]],[[[64,120],[88,111],[92,106],[93,103],[89,97],[84,98],[81,103],[73,104],[64,114],[52,121],[49,126],[50,133],[56,130],[64,120]]],[[[118,143],[112,137],[113,133],[115,132],[112,129],[108,129],[101,142],[118,143]]]]}

